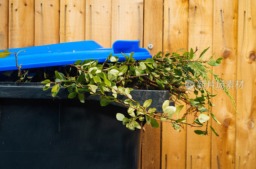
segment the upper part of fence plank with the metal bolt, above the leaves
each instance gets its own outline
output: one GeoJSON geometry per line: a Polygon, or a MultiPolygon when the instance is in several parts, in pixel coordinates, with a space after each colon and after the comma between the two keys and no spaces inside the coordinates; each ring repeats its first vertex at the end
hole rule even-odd
{"type": "Polygon", "coordinates": [[[144,1],[143,48],[152,56],[163,49],[163,0],[144,1]],[[153,44],[153,48],[148,49],[148,44],[153,44]]]}

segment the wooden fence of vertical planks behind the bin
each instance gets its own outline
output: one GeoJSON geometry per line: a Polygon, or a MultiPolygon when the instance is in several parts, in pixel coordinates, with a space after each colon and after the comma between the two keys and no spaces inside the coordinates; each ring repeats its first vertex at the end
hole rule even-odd
{"type": "MultiPolygon", "coordinates": [[[[242,81],[230,88],[237,115],[220,90],[212,109],[219,133],[201,137],[194,128],[176,133],[170,124],[145,126],[142,169],[256,168],[255,0],[0,0],[0,49],[94,40],[153,44],[151,54],[179,48],[223,57],[213,67],[221,78],[242,81]]],[[[182,114],[182,113],[180,113],[182,114]]],[[[188,117],[192,120],[192,117],[188,117]]]]}

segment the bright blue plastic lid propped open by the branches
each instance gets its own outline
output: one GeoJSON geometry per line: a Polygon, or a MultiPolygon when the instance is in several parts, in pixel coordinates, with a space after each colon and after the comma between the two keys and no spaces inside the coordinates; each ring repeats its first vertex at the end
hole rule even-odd
{"type": "MultiPolygon", "coordinates": [[[[152,58],[145,48],[139,47],[140,41],[116,41],[112,48],[103,48],[95,41],[66,42],[43,46],[33,46],[26,48],[7,49],[14,53],[21,51],[17,56],[18,65],[21,69],[48,67],[58,65],[74,64],[77,60],[95,59],[104,62],[108,55],[117,56],[118,61],[125,61],[124,53],[130,56],[134,52],[135,60],[152,58]]],[[[0,50],[2,52],[4,50],[0,50]]],[[[15,55],[11,54],[6,58],[0,58],[0,71],[16,70],[15,55]]]]}

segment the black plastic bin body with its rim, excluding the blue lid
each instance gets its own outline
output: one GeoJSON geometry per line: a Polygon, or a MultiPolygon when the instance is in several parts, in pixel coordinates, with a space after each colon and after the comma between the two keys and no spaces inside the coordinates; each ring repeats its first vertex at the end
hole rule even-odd
{"type": "MultiPolygon", "coordinates": [[[[116,119],[118,112],[127,115],[126,108],[113,102],[102,107],[89,93],[85,103],[67,100],[64,88],[52,98],[41,83],[0,82],[0,91],[1,169],[139,168],[142,130],[131,131],[116,119]]],[[[156,112],[169,99],[164,90],[131,95],[140,104],[152,99],[156,112]]]]}

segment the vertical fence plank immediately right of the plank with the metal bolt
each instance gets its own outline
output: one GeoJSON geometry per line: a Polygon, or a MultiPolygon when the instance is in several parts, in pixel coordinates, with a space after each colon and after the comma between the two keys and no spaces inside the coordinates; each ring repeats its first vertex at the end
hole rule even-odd
{"type": "MultiPolygon", "coordinates": [[[[188,46],[188,0],[164,0],[164,54],[188,46]]],[[[182,103],[185,104],[185,103],[182,103]]],[[[177,105],[175,105],[177,106],[177,105]]],[[[180,118],[186,106],[180,112],[180,118]]],[[[186,131],[177,133],[171,123],[162,123],[162,169],[186,168],[186,131]],[[175,138],[175,140],[174,140],[175,138]],[[173,144],[172,144],[173,142],[173,144]]]]}

